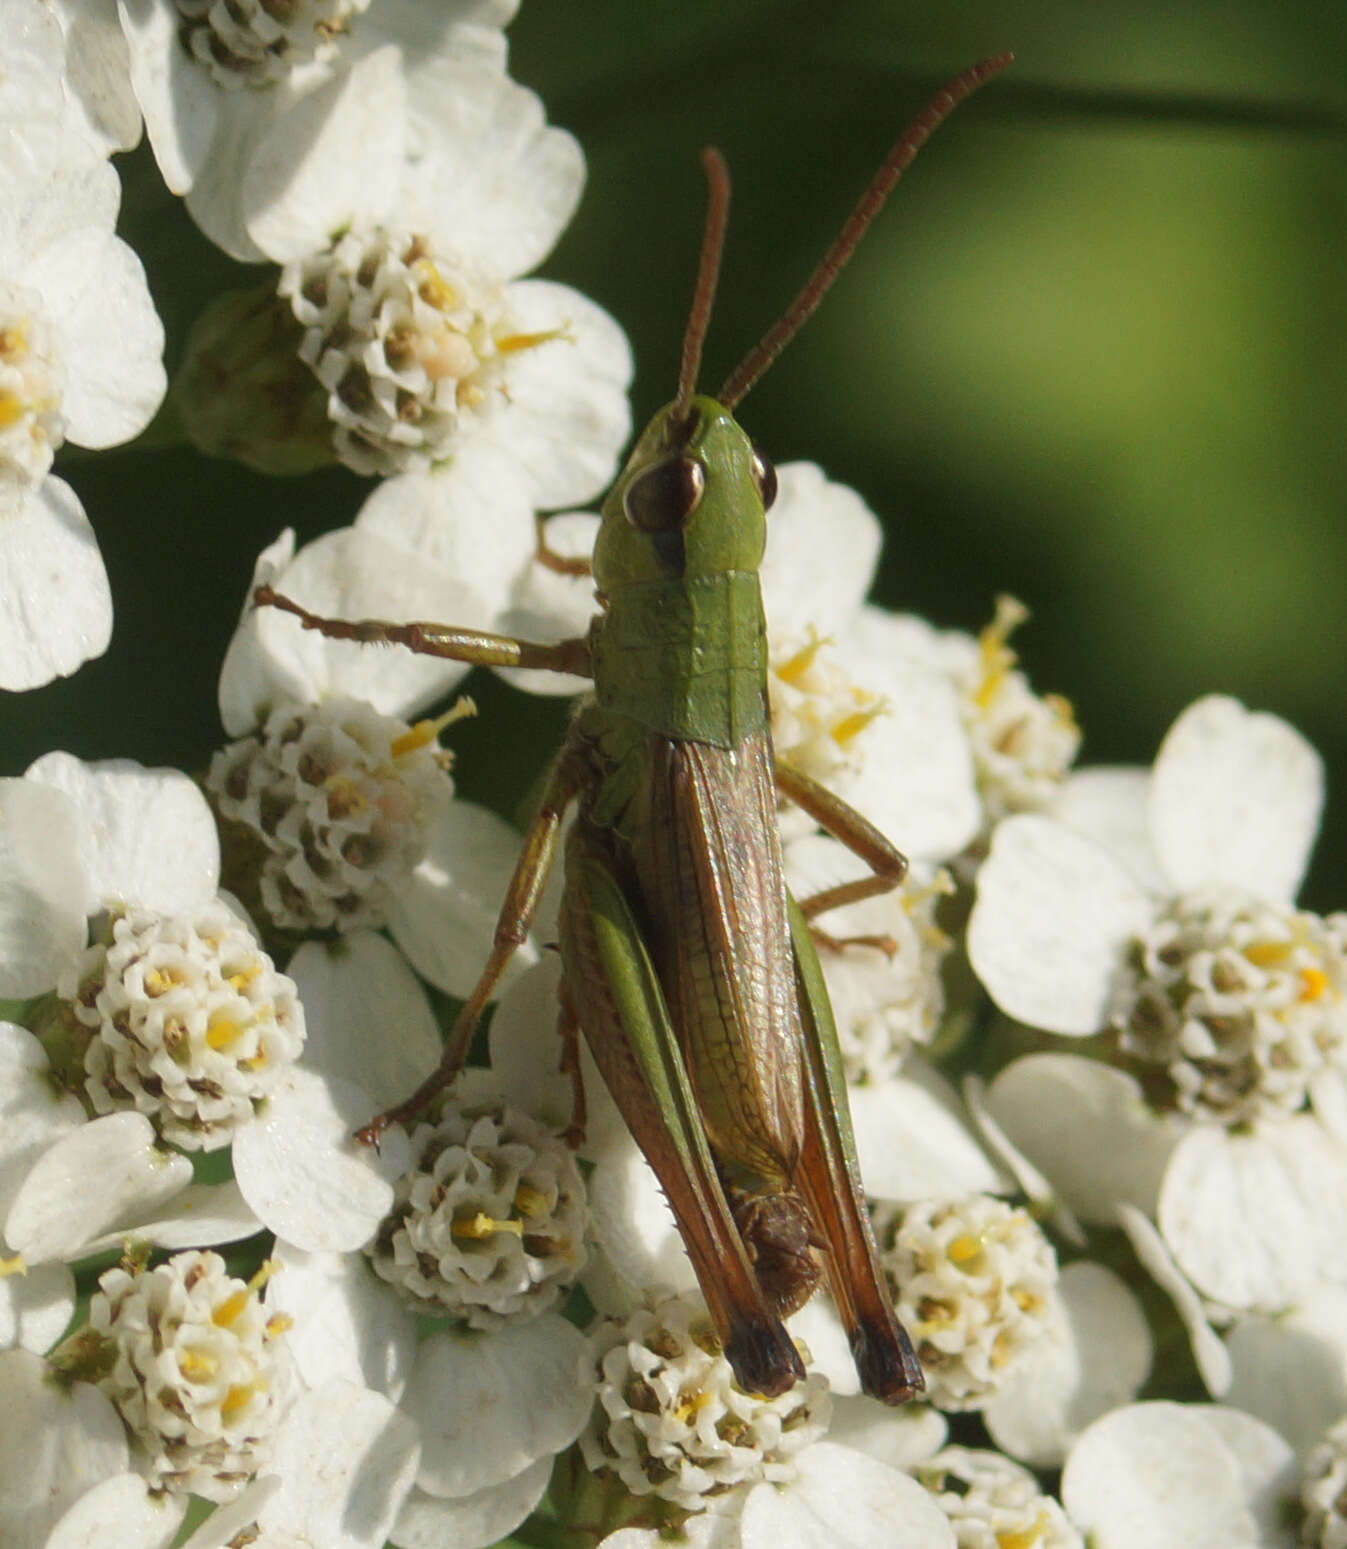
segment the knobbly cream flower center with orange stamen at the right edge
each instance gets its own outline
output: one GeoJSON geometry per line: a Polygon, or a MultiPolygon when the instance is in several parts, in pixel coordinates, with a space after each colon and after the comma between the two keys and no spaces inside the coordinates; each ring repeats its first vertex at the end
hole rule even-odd
{"type": "Polygon", "coordinates": [[[1225,1125],[1293,1114],[1347,1069],[1347,914],[1177,898],[1132,948],[1113,1013],[1150,1100],[1225,1125]]]}

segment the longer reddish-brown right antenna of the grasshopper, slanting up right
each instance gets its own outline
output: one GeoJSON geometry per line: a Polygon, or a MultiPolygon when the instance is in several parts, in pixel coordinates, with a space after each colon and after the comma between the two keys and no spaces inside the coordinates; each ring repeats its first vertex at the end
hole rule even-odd
{"type": "MultiPolygon", "coordinates": [[[[917,152],[926,144],[946,118],[971,98],[980,85],[992,76],[999,76],[1014,59],[1014,54],[992,54],[971,65],[963,74],[946,82],[926,107],[912,119],[903,136],[884,158],[879,170],[870,180],[865,192],[856,200],[852,214],[842,223],[836,240],[819,260],[819,266],[805,280],[799,296],[787,307],[777,321],[766,330],[762,339],[745,355],[715,395],[726,409],[734,409],[759,376],[771,366],[780,352],[800,331],[813,316],[814,308],[827,296],[833,280],[841,274],[842,266],[859,246],[861,237],[870,229],[870,223],[884,206],[884,200],[893,192],[898,178],[917,160],[917,152]]],[[[691,327],[691,324],[689,324],[691,327]]]]}

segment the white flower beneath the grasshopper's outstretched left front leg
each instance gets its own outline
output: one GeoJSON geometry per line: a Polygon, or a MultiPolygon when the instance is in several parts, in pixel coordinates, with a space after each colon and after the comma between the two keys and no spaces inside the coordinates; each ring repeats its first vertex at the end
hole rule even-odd
{"type": "MultiPolygon", "coordinates": [[[[398,593],[387,570],[358,564],[365,547],[364,534],[347,528],[291,561],[285,533],[259,558],[255,581],[317,592],[317,606],[355,617],[362,603],[398,593]]],[[[415,573],[426,590],[438,593],[443,579],[464,596],[434,565],[416,564],[415,573]]],[[[435,737],[460,711],[415,726],[399,719],[438,696],[444,674],[438,663],[427,674],[427,658],[409,651],[330,641],[290,624],[276,609],[245,607],[220,703],[229,731],[254,734],[217,754],[211,774],[221,812],[271,852],[263,903],[288,926],[387,925],[420,973],[466,998],[486,962],[520,835],[454,796],[435,737]]],[[[525,943],[516,967],[533,956],[525,943]]]]}

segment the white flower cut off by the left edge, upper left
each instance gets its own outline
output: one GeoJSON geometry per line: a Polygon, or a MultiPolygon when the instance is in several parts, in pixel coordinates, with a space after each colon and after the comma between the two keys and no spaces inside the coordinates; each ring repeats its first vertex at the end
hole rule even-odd
{"type": "Polygon", "coordinates": [[[98,542],[53,459],[67,440],[130,440],[166,380],[144,271],[115,235],[116,172],[59,90],[60,26],[37,0],[9,20],[23,25],[0,42],[0,686],[25,689],[111,632],[98,542]]]}

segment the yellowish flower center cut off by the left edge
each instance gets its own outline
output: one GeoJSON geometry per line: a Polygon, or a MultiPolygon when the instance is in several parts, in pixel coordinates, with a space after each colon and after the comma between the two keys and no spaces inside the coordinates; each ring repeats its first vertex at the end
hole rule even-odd
{"type": "Polygon", "coordinates": [[[39,483],[65,440],[63,373],[40,302],[0,287],[0,493],[39,483]]]}

